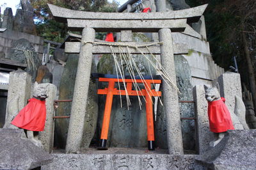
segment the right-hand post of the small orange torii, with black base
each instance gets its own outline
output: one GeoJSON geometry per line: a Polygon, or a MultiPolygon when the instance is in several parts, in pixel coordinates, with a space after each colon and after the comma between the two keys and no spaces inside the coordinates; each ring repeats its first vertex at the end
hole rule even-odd
{"type": "Polygon", "coordinates": [[[155,150],[155,135],[154,135],[154,120],[153,120],[153,106],[151,95],[150,82],[144,83],[146,93],[146,118],[147,118],[147,135],[148,135],[148,150],[155,150]]]}

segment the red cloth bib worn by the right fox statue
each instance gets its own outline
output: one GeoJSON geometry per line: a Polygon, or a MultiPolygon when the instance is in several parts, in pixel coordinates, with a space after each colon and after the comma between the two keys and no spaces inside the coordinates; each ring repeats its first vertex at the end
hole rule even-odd
{"type": "Polygon", "coordinates": [[[211,132],[220,133],[233,130],[230,112],[225,105],[225,98],[208,102],[208,117],[211,132]]]}

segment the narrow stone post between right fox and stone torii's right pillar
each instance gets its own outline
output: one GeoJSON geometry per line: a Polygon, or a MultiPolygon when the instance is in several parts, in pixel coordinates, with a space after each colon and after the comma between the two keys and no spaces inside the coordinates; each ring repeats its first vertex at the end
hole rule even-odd
{"type": "Polygon", "coordinates": [[[202,155],[209,149],[209,143],[212,139],[212,133],[209,129],[209,118],[207,115],[207,100],[205,100],[205,91],[203,85],[197,85],[193,88],[193,98],[195,101],[196,116],[196,143],[198,153],[202,155]]]}

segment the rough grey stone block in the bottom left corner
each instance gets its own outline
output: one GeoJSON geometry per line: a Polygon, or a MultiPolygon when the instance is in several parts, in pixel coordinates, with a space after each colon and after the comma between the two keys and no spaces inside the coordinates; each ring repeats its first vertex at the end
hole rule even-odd
{"type": "Polygon", "coordinates": [[[0,128],[0,169],[33,169],[52,162],[52,155],[31,143],[24,130],[0,128]]]}

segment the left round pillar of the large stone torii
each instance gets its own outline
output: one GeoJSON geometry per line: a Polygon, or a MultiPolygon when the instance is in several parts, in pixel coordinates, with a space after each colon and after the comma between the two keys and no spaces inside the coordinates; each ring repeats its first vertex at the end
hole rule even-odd
{"type": "Polygon", "coordinates": [[[90,84],[90,72],[92,67],[92,43],[94,42],[95,29],[86,27],[82,33],[79,61],[77,66],[74,97],[68,126],[66,153],[76,153],[81,148],[84,116],[90,84]]]}

